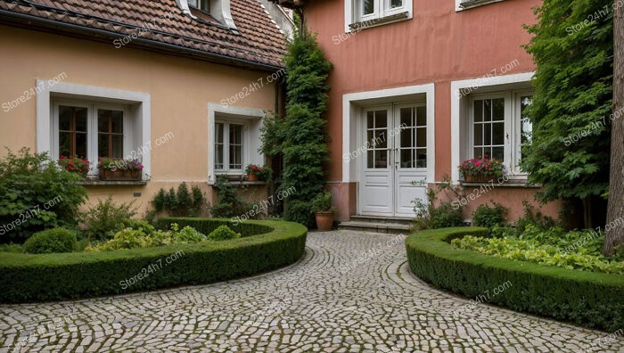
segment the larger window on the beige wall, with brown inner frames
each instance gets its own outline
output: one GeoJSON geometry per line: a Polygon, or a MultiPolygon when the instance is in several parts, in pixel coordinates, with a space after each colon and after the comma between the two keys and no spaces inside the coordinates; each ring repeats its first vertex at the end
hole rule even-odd
{"type": "MultiPolygon", "coordinates": [[[[52,156],[124,158],[127,135],[133,123],[128,107],[111,103],[54,101],[52,111],[52,156]]],[[[94,174],[94,169],[92,169],[94,174]]]]}

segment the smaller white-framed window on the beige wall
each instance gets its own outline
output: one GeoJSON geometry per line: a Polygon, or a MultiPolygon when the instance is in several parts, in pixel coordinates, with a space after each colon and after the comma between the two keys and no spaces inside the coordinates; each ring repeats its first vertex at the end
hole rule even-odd
{"type": "Polygon", "coordinates": [[[215,171],[217,173],[242,173],[249,151],[246,131],[240,122],[217,120],[215,122],[215,171]],[[247,153],[246,153],[247,152],[247,153]]]}

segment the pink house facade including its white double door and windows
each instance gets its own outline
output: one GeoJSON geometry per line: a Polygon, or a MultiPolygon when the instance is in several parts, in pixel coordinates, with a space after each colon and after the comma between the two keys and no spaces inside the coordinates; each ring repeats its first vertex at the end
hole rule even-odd
{"type": "Polygon", "coordinates": [[[523,25],[536,22],[538,0],[277,2],[303,13],[334,65],[328,187],[341,220],[413,218],[412,201],[447,179],[466,193],[446,195],[466,219],[487,201],[511,219],[534,202],[518,163],[535,70],[523,25]],[[505,176],[464,183],[457,167],[485,155],[504,160],[505,176]]]}

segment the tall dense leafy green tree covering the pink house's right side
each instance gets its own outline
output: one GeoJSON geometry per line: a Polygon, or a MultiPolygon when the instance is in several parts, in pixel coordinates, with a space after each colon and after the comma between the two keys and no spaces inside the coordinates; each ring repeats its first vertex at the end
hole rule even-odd
{"type": "Polygon", "coordinates": [[[592,200],[609,181],[612,111],[612,0],[545,0],[527,51],[537,64],[528,114],[532,144],[522,151],[541,201],[578,198],[586,226],[592,200]],[[593,21],[591,21],[593,20],[593,21]]]}

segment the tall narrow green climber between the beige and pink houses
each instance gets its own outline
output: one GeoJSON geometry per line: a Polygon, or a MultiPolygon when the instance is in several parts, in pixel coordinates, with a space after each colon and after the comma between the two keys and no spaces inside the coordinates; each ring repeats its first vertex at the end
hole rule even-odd
{"type": "Polygon", "coordinates": [[[296,36],[286,54],[286,119],[283,142],[283,190],[296,190],[286,200],[285,218],[314,224],[310,201],[325,184],[323,163],[328,160],[324,112],[332,69],[306,31],[296,36]]]}

